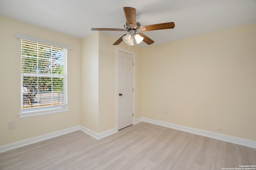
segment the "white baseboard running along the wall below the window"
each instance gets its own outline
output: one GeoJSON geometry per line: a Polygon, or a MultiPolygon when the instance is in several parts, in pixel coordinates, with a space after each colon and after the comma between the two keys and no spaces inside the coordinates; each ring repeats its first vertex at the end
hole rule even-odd
{"type": "Polygon", "coordinates": [[[41,135],[41,136],[38,136],[38,137],[33,137],[33,138],[30,138],[30,139],[24,139],[22,141],[17,141],[17,142],[14,142],[14,143],[10,143],[10,144],[7,144],[7,145],[2,145],[2,146],[0,146],[0,153],[8,151],[8,150],[16,149],[16,148],[19,148],[19,147],[24,147],[26,145],[37,143],[37,142],[44,141],[44,140],[47,140],[47,139],[51,139],[51,138],[54,138],[54,137],[58,137],[58,136],[61,136],[61,135],[65,135],[67,133],[71,133],[71,132],[78,131],[78,130],[80,130],[80,126],[75,126],[75,127],[70,127],[68,129],[48,133],[46,135],[41,135]]]}

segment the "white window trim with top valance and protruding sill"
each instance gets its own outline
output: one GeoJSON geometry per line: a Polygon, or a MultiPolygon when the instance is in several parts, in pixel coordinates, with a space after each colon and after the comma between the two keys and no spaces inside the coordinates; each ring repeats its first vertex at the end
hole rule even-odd
{"type": "MultiPolygon", "coordinates": [[[[42,39],[36,39],[33,37],[28,37],[26,35],[20,35],[20,34],[15,34],[17,39],[24,39],[27,41],[33,41],[36,43],[40,43],[40,44],[46,44],[46,45],[50,45],[50,46],[55,46],[55,47],[60,47],[63,48],[66,53],[68,50],[72,50],[72,47],[67,46],[67,45],[62,45],[62,44],[58,44],[58,43],[54,43],[54,42],[50,42],[50,41],[46,41],[46,40],[42,40],[42,39]]],[[[21,42],[22,45],[22,42],[21,42]]],[[[22,50],[21,50],[22,51],[22,50]]],[[[67,54],[66,54],[67,55],[67,54]]],[[[67,67],[67,56],[64,57],[64,60],[66,60],[66,64],[64,64],[67,67]]],[[[22,62],[22,61],[21,61],[22,62]]],[[[22,65],[22,63],[21,63],[22,65]]],[[[21,72],[21,112],[18,113],[18,115],[20,116],[20,118],[26,118],[26,117],[34,117],[34,116],[40,116],[40,115],[47,115],[47,114],[53,114],[53,113],[60,113],[60,112],[66,112],[69,111],[69,107],[68,107],[68,95],[67,95],[67,68],[66,69],[66,74],[64,74],[64,89],[63,89],[63,95],[64,95],[64,103],[62,105],[52,105],[52,106],[44,106],[44,107],[32,107],[32,108],[26,108],[26,109],[22,109],[22,101],[23,101],[23,96],[22,96],[22,91],[23,91],[23,73],[21,72]]]]}

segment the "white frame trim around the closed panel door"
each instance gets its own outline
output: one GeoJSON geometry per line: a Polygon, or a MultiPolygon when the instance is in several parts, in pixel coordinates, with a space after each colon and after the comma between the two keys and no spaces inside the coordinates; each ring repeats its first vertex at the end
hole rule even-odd
{"type": "Polygon", "coordinates": [[[132,113],[133,113],[133,117],[132,117],[132,124],[134,124],[134,120],[135,120],[135,53],[120,47],[116,47],[116,129],[118,130],[118,51],[122,51],[124,53],[128,53],[130,55],[133,55],[133,88],[134,88],[134,92],[133,92],[133,107],[132,107],[132,113]]]}

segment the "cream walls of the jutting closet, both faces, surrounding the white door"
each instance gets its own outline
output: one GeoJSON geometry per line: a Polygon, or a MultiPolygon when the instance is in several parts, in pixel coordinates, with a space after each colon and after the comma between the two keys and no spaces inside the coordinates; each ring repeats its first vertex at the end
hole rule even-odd
{"type": "MultiPolygon", "coordinates": [[[[82,112],[81,125],[101,133],[115,128],[116,38],[95,32],[82,39],[82,112]]],[[[118,45],[126,48],[124,43],[118,45]]],[[[130,47],[136,53],[135,116],[142,117],[142,49],[130,47]]]]}

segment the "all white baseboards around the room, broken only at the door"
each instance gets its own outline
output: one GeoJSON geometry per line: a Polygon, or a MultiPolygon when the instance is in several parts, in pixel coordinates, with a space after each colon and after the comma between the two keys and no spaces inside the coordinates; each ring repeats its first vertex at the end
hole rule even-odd
{"type": "MultiPolygon", "coordinates": [[[[220,134],[220,133],[214,133],[214,132],[204,131],[204,130],[196,129],[196,128],[192,128],[192,127],[186,127],[186,126],[182,126],[182,125],[168,123],[168,122],[164,122],[164,121],[158,121],[158,120],[149,119],[149,118],[146,118],[146,117],[135,119],[133,124],[135,125],[135,124],[140,123],[142,121],[147,122],[147,123],[152,123],[152,124],[155,124],[155,125],[169,127],[169,128],[172,128],[172,129],[177,129],[177,130],[180,130],[180,131],[185,131],[185,132],[188,132],[188,133],[193,133],[193,134],[196,134],[196,135],[201,135],[201,136],[210,137],[210,138],[213,138],[213,139],[218,139],[218,140],[221,140],[221,141],[235,143],[235,144],[238,144],[238,145],[243,145],[243,146],[246,146],[246,147],[251,147],[251,148],[256,149],[256,141],[250,141],[248,139],[243,139],[243,138],[239,138],[239,137],[233,137],[233,136],[223,135],[223,134],[220,134]]],[[[94,132],[90,129],[87,129],[86,127],[83,127],[83,126],[79,125],[79,126],[70,127],[68,129],[64,129],[64,130],[61,130],[61,131],[48,133],[46,135],[41,135],[41,136],[38,136],[38,137],[33,137],[33,138],[30,138],[30,139],[25,139],[25,140],[22,140],[22,141],[17,141],[17,142],[14,142],[14,143],[10,143],[10,144],[7,144],[7,145],[2,145],[2,146],[0,146],[0,153],[8,151],[8,150],[16,149],[16,148],[19,148],[19,147],[24,147],[26,145],[37,143],[37,142],[44,141],[44,140],[47,140],[47,139],[51,139],[51,138],[54,138],[54,137],[58,137],[58,136],[61,136],[61,135],[65,135],[67,133],[71,133],[71,132],[78,131],[78,130],[83,131],[84,133],[94,137],[97,140],[102,139],[104,137],[107,137],[109,135],[112,135],[112,134],[118,132],[118,130],[116,128],[113,128],[113,129],[110,129],[108,131],[104,131],[102,133],[96,133],[96,132],[94,132]]]]}

